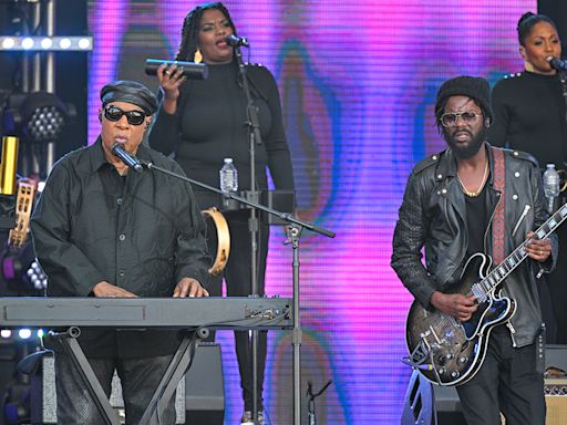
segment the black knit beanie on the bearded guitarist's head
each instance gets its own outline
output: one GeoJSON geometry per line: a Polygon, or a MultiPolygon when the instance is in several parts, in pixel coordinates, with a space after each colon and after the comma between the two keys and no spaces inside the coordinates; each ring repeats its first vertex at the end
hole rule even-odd
{"type": "Polygon", "coordinates": [[[445,81],[437,92],[435,112],[437,112],[441,105],[451,96],[467,96],[474,99],[492,123],[494,113],[491,104],[491,86],[485,79],[462,75],[445,81]]]}

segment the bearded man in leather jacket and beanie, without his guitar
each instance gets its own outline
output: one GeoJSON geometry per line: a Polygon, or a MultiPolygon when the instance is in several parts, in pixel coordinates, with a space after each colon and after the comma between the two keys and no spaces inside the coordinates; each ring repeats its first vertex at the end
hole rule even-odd
{"type": "MultiPolygon", "coordinates": [[[[486,80],[458,76],[443,83],[435,118],[449,147],[419,163],[409,177],[392,267],[424,311],[452,317],[458,325],[480,311],[473,291],[458,291],[468,258],[482,252],[498,265],[546,221],[547,212],[536,160],[485,142],[493,120],[486,80]]],[[[515,314],[486,331],[488,345],[476,374],[460,382],[457,372],[452,375],[468,425],[499,425],[499,412],[511,424],[545,423],[537,284],[542,272],[555,266],[557,238],[532,239],[524,250],[526,261],[502,282],[503,293],[515,301],[515,314]]],[[[440,345],[453,338],[437,333],[440,345]]],[[[442,376],[451,360],[447,354],[431,362],[442,376]]]]}

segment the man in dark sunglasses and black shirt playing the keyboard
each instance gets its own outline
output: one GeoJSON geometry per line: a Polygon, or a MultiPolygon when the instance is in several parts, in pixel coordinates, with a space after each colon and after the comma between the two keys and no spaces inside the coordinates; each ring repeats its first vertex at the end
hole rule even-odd
{"type": "MultiPolygon", "coordinates": [[[[161,173],[134,173],[112,153],[128,153],[182,174],[181,167],[142,145],[154,94],[132,81],[101,90],[101,135],[60,159],[33,212],[38,258],[49,297],[207,297],[209,258],[205,224],[192,189],[161,173]]],[[[175,352],[171,331],[84,329],[79,338],[110,395],[118,372],[126,423],[137,424],[175,352]]],[[[53,343],[58,423],[104,424],[69,356],[53,343]]],[[[174,398],[161,424],[175,423],[174,398]]]]}

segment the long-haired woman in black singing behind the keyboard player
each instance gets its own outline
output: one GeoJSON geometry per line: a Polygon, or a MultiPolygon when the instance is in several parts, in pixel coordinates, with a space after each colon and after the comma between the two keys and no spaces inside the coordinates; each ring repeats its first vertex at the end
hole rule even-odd
{"type": "MultiPolygon", "coordinates": [[[[235,50],[226,38],[236,34],[228,10],[219,2],[194,8],[185,18],[177,61],[205,62],[209,75],[204,81],[185,81],[183,73],[162,66],[157,79],[163,101],[150,145],[164,154],[175,153],[175,159],[187,176],[218,187],[223,158],[230,157],[238,169],[238,188],[250,189],[250,155],[248,128],[245,125],[246,95],[238,72],[235,50]]],[[[246,65],[247,79],[255,106],[258,108],[262,144],[256,145],[256,188],[268,188],[269,168],[276,189],[293,190],[289,148],[284,131],[278,87],[264,66],[246,65]]],[[[203,209],[220,207],[220,197],[194,187],[203,209]]],[[[230,229],[230,256],[224,274],[212,278],[210,296],[220,296],[223,277],[228,297],[250,294],[249,210],[225,212],[230,229]]],[[[208,231],[208,240],[215,239],[208,231]]],[[[213,234],[213,235],[212,235],[213,234]]],[[[260,221],[258,256],[258,292],[265,293],[265,270],[269,227],[260,221]]],[[[210,247],[210,246],[209,246],[210,247]]],[[[215,249],[216,250],[216,249],[215,249]]],[[[235,332],[240,370],[244,410],[241,422],[252,414],[251,351],[248,332],[235,332]]],[[[258,342],[258,419],[264,424],[262,383],[266,361],[266,332],[258,342]]]]}

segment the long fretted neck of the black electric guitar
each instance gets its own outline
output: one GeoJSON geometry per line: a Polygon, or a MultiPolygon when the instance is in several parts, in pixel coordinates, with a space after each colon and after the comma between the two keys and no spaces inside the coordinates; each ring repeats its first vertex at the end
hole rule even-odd
{"type": "MultiPolygon", "coordinates": [[[[549,235],[551,235],[567,218],[567,204],[563,205],[551,217],[547,219],[536,231],[534,231],[534,236],[532,238],[545,239],[549,235]]],[[[477,291],[473,290],[473,293],[477,296],[477,298],[486,297],[487,293],[493,291],[509,273],[512,273],[516,267],[518,267],[522,261],[527,258],[527,251],[525,249],[526,243],[530,241],[532,238],[528,238],[522,242],[519,247],[517,247],[508,257],[504,259],[498,266],[496,266],[488,276],[476,283],[478,292],[481,292],[481,297],[476,293],[477,291]]]]}

